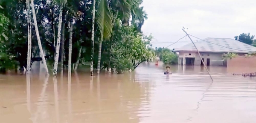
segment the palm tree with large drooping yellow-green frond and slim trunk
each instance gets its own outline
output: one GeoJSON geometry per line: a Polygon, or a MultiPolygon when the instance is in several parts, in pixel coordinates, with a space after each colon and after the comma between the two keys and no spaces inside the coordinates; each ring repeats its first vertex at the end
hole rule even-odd
{"type": "MultiPolygon", "coordinates": [[[[101,39],[99,42],[97,73],[100,72],[102,41],[109,39],[112,33],[113,14],[111,9],[115,11],[115,16],[119,17],[124,25],[128,25],[131,14],[135,14],[136,10],[139,10],[139,6],[142,1],[143,0],[99,0],[99,9],[97,11],[96,19],[101,34],[101,39]],[[108,1],[110,1],[111,8],[109,7],[108,1]]],[[[140,15],[139,17],[143,18],[143,15],[140,15]]]]}

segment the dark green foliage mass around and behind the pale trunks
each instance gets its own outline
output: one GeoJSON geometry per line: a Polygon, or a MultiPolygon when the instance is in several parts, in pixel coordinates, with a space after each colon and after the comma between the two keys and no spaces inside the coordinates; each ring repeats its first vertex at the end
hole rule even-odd
{"type": "MultiPolygon", "coordinates": [[[[47,63],[51,64],[54,57],[55,41],[57,39],[58,17],[60,6],[64,7],[64,64],[68,59],[69,27],[73,17],[76,21],[73,26],[72,63],[76,63],[79,49],[82,47],[80,61],[90,61],[91,32],[92,32],[92,0],[34,0],[38,30],[43,49],[49,55],[47,63]],[[54,31],[55,30],[55,33],[54,31]]],[[[119,72],[135,69],[141,62],[153,59],[154,52],[151,51],[150,38],[144,37],[141,26],[147,18],[142,0],[97,0],[96,1],[96,28],[94,44],[94,66],[96,66],[99,54],[99,42],[102,40],[102,65],[116,68],[119,72]],[[131,20],[133,23],[125,27],[131,20]],[[114,25],[115,24],[115,25],[114,25]],[[124,48],[124,49],[123,49],[124,48]]],[[[5,63],[16,62],[20,65],[26,64],[27,57],[27,11],[26,0],[0,0],[0,50],[2,60],[5,63]],[[3,17],[4,16],[4,17],[3,17]],[[5,25],[9,19],[10,25],[5,25]],[[3,22],[5,21],[5,22],[3,22]],[[3,26],[4,28],[3,28],[3,26]],[[3,30],[4,29],[4,30],[3,30]],[[2,33],[4,32],[4,34],[2,33]],[[7,37],[7,38],[6,38],[7,37]],[[5,48],[3,48],[5,47],[5,48]],[[6,54],[4,54],[6,53],[6,54]],[[15,57],[10,62],[6,58],[15,57]]],[[[32,15],[32,11],[29,11],[32,15]]],[[[33,23],[33,20],[32,20],[33,23]]],[[[35,27],[32,25],[32,57],[39,55],[35,27]]],[[[81,62],[80,62],[81,63],[81,62]]],[[[2,66],[3,64],[1,64],[2,66]]],[[[9,65],[4,65],[9,66],[9,65]]],[[[10,66],[9,68],[12,68],[10,66]]]]}

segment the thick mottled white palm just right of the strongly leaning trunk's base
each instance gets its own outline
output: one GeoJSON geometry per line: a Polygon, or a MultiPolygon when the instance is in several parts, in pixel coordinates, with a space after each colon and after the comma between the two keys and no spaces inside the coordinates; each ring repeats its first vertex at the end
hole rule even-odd
{"type": "Polygon", "coordinates": [[[67,0],[53,0],[53,3],[57,3],[60,6],[60,14],[59,14],[59,23],[58,23],[58,35],[57,35],[57,43],[54,57],[54,67],[53,67],[53,76],[56,77],[58,70],[58,57],[60,52],[60,43],[61,43],[61,24],[62,24],[62,11],[63,7],[67,5],[67,0]]]}

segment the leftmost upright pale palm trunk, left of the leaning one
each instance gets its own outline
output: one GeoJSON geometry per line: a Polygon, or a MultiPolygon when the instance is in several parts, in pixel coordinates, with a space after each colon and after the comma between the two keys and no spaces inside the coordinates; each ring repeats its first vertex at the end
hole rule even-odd
{"type": "Polygon", "coordinates": [[[31,70],[31,15],[30,15],[30,2],[29,0],[26,0],[26,10],[27,10],[27,21],[28,21],[28,56],[27,56],[27,71],[26,74],[30,74],[30,70],[31,70]]]}

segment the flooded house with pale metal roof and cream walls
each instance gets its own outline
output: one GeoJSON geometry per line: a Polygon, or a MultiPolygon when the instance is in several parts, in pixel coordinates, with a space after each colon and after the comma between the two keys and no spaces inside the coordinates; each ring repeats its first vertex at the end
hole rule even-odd
{"type": "MultiPolygon", "coordinates": [[[[224,53],[233,52],[244,55],[256,51],[256,47],[230,38],[206,38],[194,43],[207,66],[223,66],[224,53]]],[[[173,51],[178,52],[179,65],[203,65],[195,46],[189,43],[173,51]]]]}

